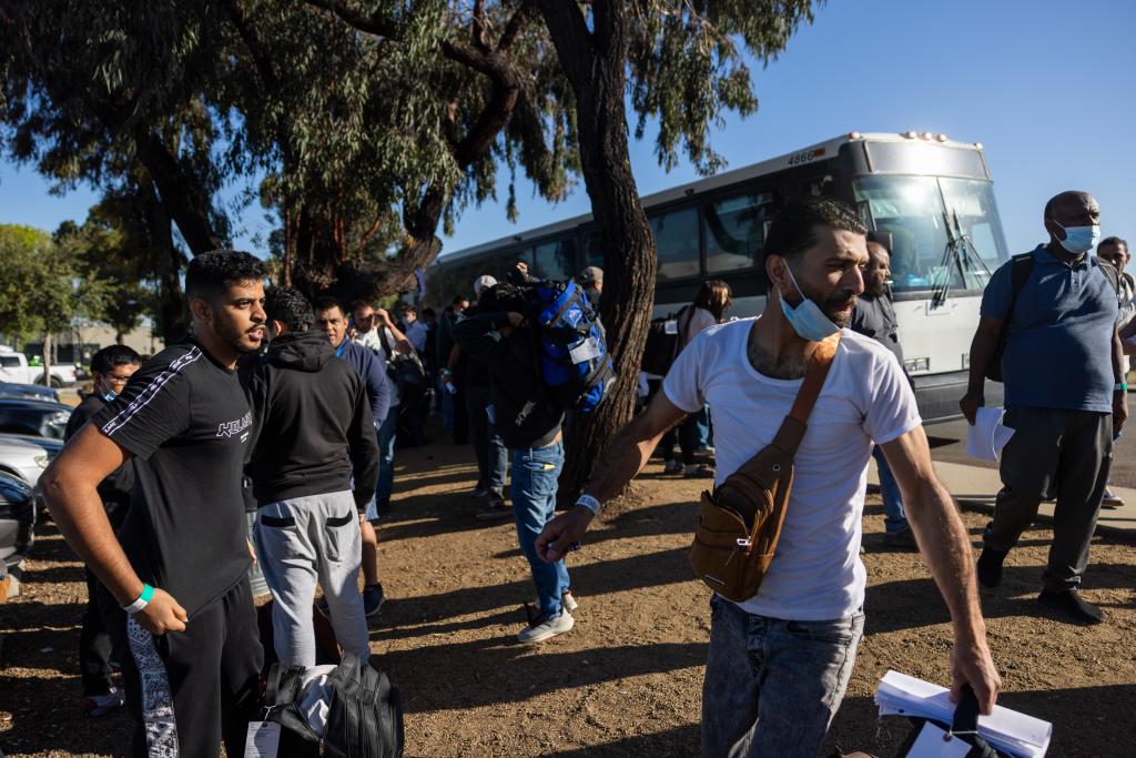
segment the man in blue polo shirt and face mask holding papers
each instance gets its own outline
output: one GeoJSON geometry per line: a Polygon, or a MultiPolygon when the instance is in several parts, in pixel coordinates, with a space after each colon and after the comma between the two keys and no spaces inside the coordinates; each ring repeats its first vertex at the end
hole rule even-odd
{"type": "Polygon", "coordinates": [[[1014,435],[1002,451],[1003,486],[983,536],[978,581],[999,586],[1006,555],[1042,499],[1055,491],[1053,544],[1037,600],[1072,623],[1100,624],[1104,613],[1078,588],[1109,481],[1112,435],[1128,418],[1119,278],[1110,264],[1088,255],[1101,236],[1093,195],[1053,197],[1043,222],[1049,241],[1014,256],[986,285],[970,381],[959,401],[974,424],[1004,336],[1004,423],[1014,435]]]}

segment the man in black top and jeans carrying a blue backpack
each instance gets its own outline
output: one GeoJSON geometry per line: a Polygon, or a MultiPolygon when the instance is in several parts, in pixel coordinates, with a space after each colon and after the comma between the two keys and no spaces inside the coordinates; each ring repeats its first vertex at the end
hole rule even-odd
{"type": "Polygon", "coordinates": [[[521,642],[543,642],[571,630],[575,607],[563,559],[546,564],[536,536],[556,511],[557,480],[563,466],[560,425],[563,409],[545,398],[533,332],[525,326],[524,290],[498,284],[482,292],[475,316],[453,326],[454,342],[490,372],[492,413],[512,452],[510,494],[520,550],[528,559],[540,608],[529,614],[521,642]]]}

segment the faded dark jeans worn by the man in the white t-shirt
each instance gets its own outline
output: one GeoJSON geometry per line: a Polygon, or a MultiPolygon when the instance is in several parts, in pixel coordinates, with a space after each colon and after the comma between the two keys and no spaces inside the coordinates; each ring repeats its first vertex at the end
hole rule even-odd
{"type": "Polygon", "coordinates": [[[863,613],[829,622],[747,614],[713,595],[702,755],[817,758],[863,636],[863,613]]]}

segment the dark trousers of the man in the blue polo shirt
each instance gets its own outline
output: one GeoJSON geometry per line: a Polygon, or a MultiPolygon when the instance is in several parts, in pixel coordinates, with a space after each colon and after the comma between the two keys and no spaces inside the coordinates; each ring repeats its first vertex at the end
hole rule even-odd
{"type": "Polygon", "coordinates": [[[1076,588],[1109,483],[1112,416],[1019,407],[1006,411],[1004,424],[1014,433],[1002,451],[1002,490],[984,542],[1009,550],[1033,524],[1041,501],[1055,495],[1053,544],[1042,578],[1049,590],[1076,588]]]}

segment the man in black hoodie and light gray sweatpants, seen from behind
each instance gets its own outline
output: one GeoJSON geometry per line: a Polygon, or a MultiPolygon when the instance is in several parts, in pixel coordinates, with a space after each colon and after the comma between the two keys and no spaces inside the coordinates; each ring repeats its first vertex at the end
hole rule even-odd
{"type": "Polygon", "coordinates": [[[356,577],[359,525],[378,476],[370,405],[359,374],[311,328],[315,315],[302,294],[279,288],[265,313],[272,342],[248,386],[256,424],[249,472],[259,503],[260,567],[275,600],[276,655],[285,665],[316,665],[318,582],[340,644],[367,658],[356,577]]]}

